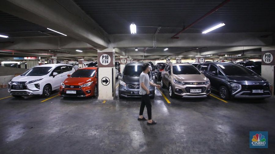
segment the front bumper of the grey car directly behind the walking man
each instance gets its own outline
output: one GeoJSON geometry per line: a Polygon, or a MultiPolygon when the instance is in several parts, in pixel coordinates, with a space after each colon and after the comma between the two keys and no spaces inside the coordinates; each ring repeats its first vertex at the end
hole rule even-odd
{"type": "MultiPolygon", "coordinates": [[[[119,84],[119,96],[123,96],[123,97],[141,97],[141,95],[131,95],[131,91],[138,91],[139,92],[139,88],[138,89],[130,89],[127,86],[122,86],[119,84]]],[[[150,86],[149,87],[149,96],[153,96],[155,95],[155,87],[154,86],[150,86]]]]}

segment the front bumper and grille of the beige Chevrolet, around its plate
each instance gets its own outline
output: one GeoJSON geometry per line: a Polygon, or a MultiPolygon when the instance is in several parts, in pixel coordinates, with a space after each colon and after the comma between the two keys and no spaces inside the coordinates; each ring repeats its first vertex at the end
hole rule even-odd
{"type": "Polygon", "coordinates": [[[173,91],[183,98],[205,98],[211,93],[210,83],[205,85],[178,85],[173,84],[173,91]],[[190,93],[190,89],[202,89],[201,93],[190,93]]]}

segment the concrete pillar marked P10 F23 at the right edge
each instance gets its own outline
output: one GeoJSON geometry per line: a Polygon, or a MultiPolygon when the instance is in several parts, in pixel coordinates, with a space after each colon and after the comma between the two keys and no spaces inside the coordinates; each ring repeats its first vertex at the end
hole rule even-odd
{"type": "Polygon", "coordinates": [[[275,46],[273,47],[262,47],[262,77],[271,83],[273,90],[272,96],[274,96],[274,68],[275,68],[275,46]],[[272,58],[270,61],[265,62],[265,54],[270,53],[272,58]]]}

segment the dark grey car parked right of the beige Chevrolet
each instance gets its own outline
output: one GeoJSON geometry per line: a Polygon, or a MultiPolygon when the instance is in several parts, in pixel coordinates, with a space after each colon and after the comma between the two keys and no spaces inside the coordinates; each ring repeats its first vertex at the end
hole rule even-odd
{"type": "Polygon", "coordinates": [[[248,68],[233,63],[210,62],[197,66],[211,82],[211,88],[219,92],[222,99],[268,98],[271,84],[248,68]]]}

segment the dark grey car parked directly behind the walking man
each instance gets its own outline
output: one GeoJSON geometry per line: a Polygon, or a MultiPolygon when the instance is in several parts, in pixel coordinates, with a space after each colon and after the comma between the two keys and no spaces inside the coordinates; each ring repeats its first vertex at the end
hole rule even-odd
{"type": "MultiPolygon", "coordinates": [[[[123,97],[141,97],[139,94],[139,76],[142,72],[141,66],[144,63],[128,63],[125,65],[123,72],[119,76],[121,79],[119,81],[119,98],[123,97]]],[[[148,73],[150,81],[153,81],[153,75],[151,72],[148,73]]],[[[155,87],[149,87],[150,98],[155,97],[155,87]]]]}

